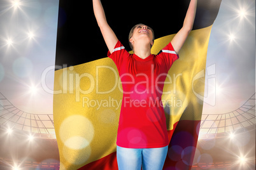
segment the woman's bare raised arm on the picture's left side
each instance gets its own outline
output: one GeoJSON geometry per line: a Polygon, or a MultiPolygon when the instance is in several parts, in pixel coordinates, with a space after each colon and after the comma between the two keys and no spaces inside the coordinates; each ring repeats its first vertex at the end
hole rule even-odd
{"type": "Polygon", "coordinates": [[[103,6],[100,0],[92,0],[94,6],[94,15],[96,17],[99,28],[101,29],[101,34],[103,34],[104,41],[108,46],[108,50],[110,53],[113,52],[115,48],[115,44],[117,44],[117,36],[115,36],[115,32],[110,28],[108,22],[106,21],[106,16],[103,10],[103,6]]]}

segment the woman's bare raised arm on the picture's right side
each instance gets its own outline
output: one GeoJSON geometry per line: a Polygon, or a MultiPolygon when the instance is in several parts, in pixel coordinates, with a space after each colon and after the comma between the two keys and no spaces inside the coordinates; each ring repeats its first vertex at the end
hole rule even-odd
{"type": "Polygon", "coordinates": [[[188,34],[193,28],[196,16],[196,7],[197,0],[190,0],[183,27],[179,30],[179,32],[173,37],[171,41],[171,44],[173,45],[173,48],[177,54],[179,53],[181,47],[183,46],[184,42],[188,37],[188,34]]]}

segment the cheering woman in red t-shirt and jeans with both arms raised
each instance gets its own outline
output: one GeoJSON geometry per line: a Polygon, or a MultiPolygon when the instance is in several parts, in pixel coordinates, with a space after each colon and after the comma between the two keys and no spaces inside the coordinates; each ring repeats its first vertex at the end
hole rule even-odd
{"type": "Polygon", "coordinates": [[[191,0],[183,27],[158,55],[151,54],[153,30],[132,27],[129,54],[106,21],[100,0],[93,0],[94,15],[122,81],[123,100],[117,133],[118,169],[162,169],[169,145],[161,96],[166,75],[192,30],[197,0],[191,0]]]}

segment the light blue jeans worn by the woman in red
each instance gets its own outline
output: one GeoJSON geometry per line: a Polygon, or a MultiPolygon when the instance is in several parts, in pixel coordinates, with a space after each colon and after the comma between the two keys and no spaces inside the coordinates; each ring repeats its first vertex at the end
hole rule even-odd
{"type": "Polygon", "coordinates": [[[162,148],[123,148],[117,146],[119,170],[160,170],[164,166],[168,146],[162,148]]]}

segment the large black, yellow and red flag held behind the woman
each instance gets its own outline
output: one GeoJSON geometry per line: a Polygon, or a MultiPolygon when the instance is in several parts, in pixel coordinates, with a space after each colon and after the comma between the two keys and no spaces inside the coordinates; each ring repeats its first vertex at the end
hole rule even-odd
{"type": "MultiPolygon", "coordinates": [[[[189,0],[101,1],[110,27],[129,49],[132,26],[155,32],[159,53],[181,29],[189,0]]],[[[164,110],[169,151],[164,169],[190,169],[196,151],[204,95],[204,70],[211,27],[221,0],[199,0],[194,28],[167,76],[164,110]]],[[[92,1],[60,0],[53,118],[60,169],[118,169],[117,128],[122,86],[107,57],[92,1]]]]}

